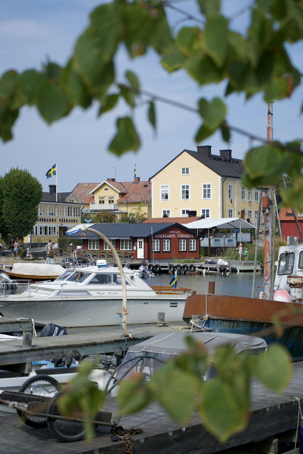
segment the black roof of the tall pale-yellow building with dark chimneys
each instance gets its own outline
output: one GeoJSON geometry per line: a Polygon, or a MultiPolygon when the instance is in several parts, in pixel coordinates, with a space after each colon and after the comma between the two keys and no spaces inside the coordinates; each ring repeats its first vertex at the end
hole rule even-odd
{"type": "MultiPolygon", "coordinates": [[[[230,150],[231,152],[232,150],[230,150]]],[[[197,151],[192,150],[183,150],[179,153],[174,159],[172,159],[169,163],[167,163],[164,167],[162,167],[157,173],[155,173],[152,177],[149,178],[149,181],[158,175],[164,168],[166,168],[170,163],[172,163],[175,159],[179,158],[182,153],[188,153],[193,158],[197,159],[201,164],[208,167],[213,172],[220,175],[220,177],[234,177],[234,178],[241,178],[241,174],[243,173],[243,165],[242,159],[231,158],[227,159],[224,156],[216,155],[216,154],[204,154],[199,153],[197,151]]]]}

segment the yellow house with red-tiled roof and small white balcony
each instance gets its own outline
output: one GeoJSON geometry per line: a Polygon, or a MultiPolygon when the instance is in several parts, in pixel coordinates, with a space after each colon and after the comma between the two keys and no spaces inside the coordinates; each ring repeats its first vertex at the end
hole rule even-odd
{"type": "Polygon", "coordinates": [[[146,217],[151,215],[151,188],[148,181],[134,177],[131,182],[118,182],[107,178],[101,183],[79,183],[73,194],[84,204],[83,214],[112,212],[117,220],[129,218],[138,210],[146,217]]]}

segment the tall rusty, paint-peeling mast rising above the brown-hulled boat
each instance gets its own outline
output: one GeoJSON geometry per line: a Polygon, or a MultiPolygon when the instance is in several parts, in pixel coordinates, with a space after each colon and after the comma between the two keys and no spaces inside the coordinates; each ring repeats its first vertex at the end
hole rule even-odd
{"type": "MultiPolygon", "coordinates": [[[[267,145],[273,141],[273,103],[268,103],[267,113],[267,145]]],[[[273,200],[274,185],[268,188],[265,197],[262,197],[264,213],[264,288],[263,299],[271,300],[273,295],[273,200]]]]}

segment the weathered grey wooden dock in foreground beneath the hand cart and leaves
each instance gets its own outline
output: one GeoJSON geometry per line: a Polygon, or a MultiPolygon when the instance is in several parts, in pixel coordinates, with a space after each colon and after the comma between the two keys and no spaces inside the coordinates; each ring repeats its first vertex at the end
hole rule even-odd
{"type": "MultiPolygon", "coordinates": [[[[293,438],[298,422],[298,402],[290,396],[297,396],[302,405],[303,364],[296,363],[293,369],[293,377],[282,395],[274,394],[258,382],[253,383],[248,426],[226,443],[219,443],[204,429],[197,413],[194,413],[189,424],[183,426],[170,419],[156,403],[138,414],[123,416],[119,424],[124,429],[143,430],[142,434],[131,435],[133,454],[223,454],[227,449],[227,452],[235,453],[237,447],[247,443],[252,443],[256,449],[258,440],[268,440],[270,444],[272,439],[293,438]]],[[[112,411],[113,415],[117,414],[114,398],[106,400],[105,409],[112,411]]],[[[1,454],[53,454],[59,450],[64,450],[65,454],[125,453],[124,441],[113,442],[109,429],[99,428],[96,438],[89,443],[79,441],[62,444],[53,438],[48,429],[32,429],[24,425],[17,415],[0,418],[0,422],[1,454]]],[[[277,451],[263,449],[263,452],[277,451]]]]}

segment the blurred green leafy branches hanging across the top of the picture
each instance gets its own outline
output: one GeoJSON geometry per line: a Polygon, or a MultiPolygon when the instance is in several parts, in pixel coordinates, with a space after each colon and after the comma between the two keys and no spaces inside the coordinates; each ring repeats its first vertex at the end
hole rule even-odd
{"type": "MultiPolygon", "coordinates": [[[[197,142],[217,129],[225,141],[236,126],[226,121],[227,105],[222,99],[197,99],[196,107],[157,98],[141,88],[139,78],[126,71],[124,81],[116,79],[115,56],[122,45],[130,58],[153,50],[168,72],[183,70],[197,84],[226,81],[226,96],[244,93],[247,99],[261,93],[267,102],[292,96],[302,74],[288,55],[287,43],[303,38],[302,0],[254,0],[248,28],[238,33],[222,14],[220,0],[197,0],[196,17],[180,9],[193,25],[171,27],[166,17],[170,1],[114,0],[100,5],[89,15],[89,26],[76,41],[65,67],[49,61],[41,70],[23,73],[7,71],[0,79],[0,137],[12,138],[11,129],[23,105],[36,106],[47,123],[70,113],[75,106],[87,109],[99,104],[99,115],[118,108],[123,100],[130,110],[142,103],[156,128],[155,101],[167,101],[194,111],[201,118],[197,142]]],[[[241,132],[241,131],[238,131],[241,132]]],[[[251,137],[251,133],[243,132],[251,137]]],[[[117,118],[109,150],[117,155],[140,146],[132,115],[117,118]]],[[[243,183],[248,187],[276,183],[282,172],[293,180],[282,189],[285,203],[303,210],[303,156],[299,143],[272,143],[249,150],[243,183]]]]}

